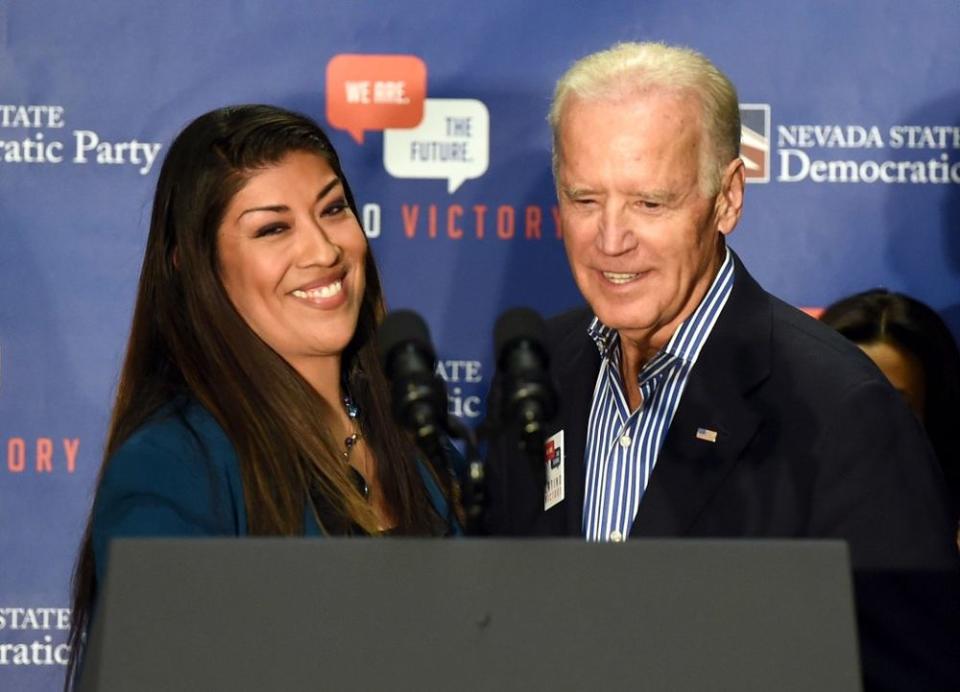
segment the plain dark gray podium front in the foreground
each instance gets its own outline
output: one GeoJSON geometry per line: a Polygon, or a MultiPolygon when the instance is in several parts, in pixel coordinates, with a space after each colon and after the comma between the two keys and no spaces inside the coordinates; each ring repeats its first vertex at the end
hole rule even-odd
{"type": "Polygon", "coordinates": [[[82,690],[859,690],[829,541],[121,540],[82,690]]]}

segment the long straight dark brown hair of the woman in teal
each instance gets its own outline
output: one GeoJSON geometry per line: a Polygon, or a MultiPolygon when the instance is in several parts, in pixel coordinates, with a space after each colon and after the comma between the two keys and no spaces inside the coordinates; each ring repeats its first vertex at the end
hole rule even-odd
{"type": "MultiPolygon", "coordinates": [[[[104,467],[158,409],[189,398],[213,415],[233,443],[248,533],[302,534],[311,494],[322,498],[324,517],[331,520],[322,528],[355,526],[373,533],[376,516],[355,489],[341,444],[325,424],[335,420],[330,405],[254,334],[220,279],[217,231],[229,201],[251,174],[294,151],[330,164],[359,219],[333,146],[303,115],[272,106],[222,108],[194,120],[170,146],[157,181],[104,467]]],[[[384,308],[369,251],[364,268],[366,289],[342,376],[362,411],[395,532],[430,533],[436,516],[419,478],[415,447],[391,417],[377,356],[376,327],[384,308]]],[[[96,591],[88,521],[73,577],[68,687],[75,682],[96,591]]]]}

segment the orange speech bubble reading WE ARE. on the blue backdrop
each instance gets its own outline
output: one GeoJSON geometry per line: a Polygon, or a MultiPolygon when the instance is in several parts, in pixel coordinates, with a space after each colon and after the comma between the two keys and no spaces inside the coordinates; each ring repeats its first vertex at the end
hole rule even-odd
{"type": "Polygon", "coordinates": [[[427,66],[415,55],[337,55],[327,63],[327,120],[363,144],[366,130],[423,120],[427,66]]]}

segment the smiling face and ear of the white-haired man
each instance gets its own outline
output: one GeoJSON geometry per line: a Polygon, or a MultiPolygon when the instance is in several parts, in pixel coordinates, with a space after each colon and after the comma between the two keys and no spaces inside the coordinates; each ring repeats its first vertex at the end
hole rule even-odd
{"type": "Polygon", "coordinates": [[[645,90],[625,100],[574,97],[560,123],[560,223],[574,279],[597,317],[662,348],[723,261],[743,195],[731,163],[720,194],[701,190],[698,102],[645,90]]]}

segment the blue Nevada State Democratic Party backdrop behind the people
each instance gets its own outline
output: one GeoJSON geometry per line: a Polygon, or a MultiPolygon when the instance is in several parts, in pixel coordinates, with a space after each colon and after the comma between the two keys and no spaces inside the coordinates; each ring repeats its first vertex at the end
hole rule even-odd
{"type": "Polygon", "coordinates": [[[0,0],[0,689],[62,675],[152,188],[192,118],[266,102],[330,127],[390,306],[426,317],[476,423],[496,316],[579,300],[545,114],[619,40],[690,45],[737,85],[755,184],[731,244],[766,288],[885,285],[960,331],[958,29],[955,0],[0,0]]]}

